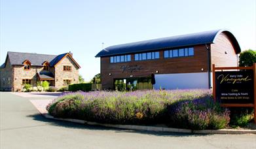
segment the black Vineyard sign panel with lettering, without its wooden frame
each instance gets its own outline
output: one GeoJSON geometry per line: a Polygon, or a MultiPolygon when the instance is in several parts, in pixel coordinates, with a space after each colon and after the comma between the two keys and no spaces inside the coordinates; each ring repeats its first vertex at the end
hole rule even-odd
{"type": "Polygon", "coordinates": [[[216,99],[219,103],[254,103],[253,71],[215,72],[216,99]]]}

